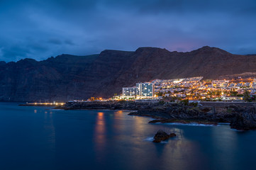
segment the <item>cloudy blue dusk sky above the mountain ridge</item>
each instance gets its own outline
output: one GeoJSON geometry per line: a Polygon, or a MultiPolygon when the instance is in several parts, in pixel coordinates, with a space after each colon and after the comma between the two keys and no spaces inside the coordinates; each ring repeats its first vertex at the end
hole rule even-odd
{"type": "Polygon", "coordinates": [[[0,61],[206,45],[256,54],[256,1],[0,0],[0,61]]]}

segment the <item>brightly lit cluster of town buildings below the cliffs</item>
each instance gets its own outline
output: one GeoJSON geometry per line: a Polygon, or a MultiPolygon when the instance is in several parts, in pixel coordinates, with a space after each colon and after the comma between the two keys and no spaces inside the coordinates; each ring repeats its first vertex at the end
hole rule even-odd
{"type": "Polygon", "coordinates": [[[241,101],[245,91],[256,95],[256,79],[204,80],[203,77],[184,79],[155,79],[137,83],[133,87],[123,87],[119,99],[161,99],[170,97],[177,100],[219,100],[241,101]]]}

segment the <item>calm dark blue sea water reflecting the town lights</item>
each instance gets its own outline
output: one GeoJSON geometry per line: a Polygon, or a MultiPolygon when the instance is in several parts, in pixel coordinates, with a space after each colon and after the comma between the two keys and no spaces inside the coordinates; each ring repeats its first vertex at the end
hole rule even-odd
{"type": "Polygon", "coordinates": [[[256,131],[0,103],[0,169],[256,169],[256,131]],[[155,144],[157,130],[177,137],[155,144]]]}

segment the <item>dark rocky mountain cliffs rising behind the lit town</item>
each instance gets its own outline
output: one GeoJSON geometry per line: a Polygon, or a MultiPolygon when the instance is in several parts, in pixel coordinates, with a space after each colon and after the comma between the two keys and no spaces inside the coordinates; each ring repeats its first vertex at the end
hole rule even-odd
{"type": "Polygon", "coordinates": [[[0,101],[68,101],[110,97],[139,81],[256,72],[255,55],[232,55],[216,47],[169,52],[140,47],[99,55],[60,55],[37,62],[0,62],[0,101]]]}

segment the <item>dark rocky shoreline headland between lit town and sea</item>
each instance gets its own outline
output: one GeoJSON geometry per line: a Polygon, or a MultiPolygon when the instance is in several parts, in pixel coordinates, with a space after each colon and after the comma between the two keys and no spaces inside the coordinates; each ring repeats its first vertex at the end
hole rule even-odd
{"type": "Polygon", "coordinates": [[[200,123],[217,125],[229,123],[237,130],[256,129],[256,105],[254,103],[204,103],[194,104],[172,102],[138,101],[96,101],[69,102],[57,108],[65,110],[111,109],[133,111],[129,115],[141,115],[155,118],[150,123],[200,123]]]}

